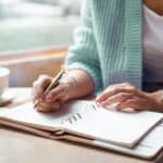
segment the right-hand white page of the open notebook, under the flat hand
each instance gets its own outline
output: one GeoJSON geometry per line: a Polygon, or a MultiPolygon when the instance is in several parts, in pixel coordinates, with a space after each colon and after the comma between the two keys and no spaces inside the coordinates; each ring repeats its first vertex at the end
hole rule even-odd
{"type": "Polygon", "coordinates": [[[92,102],[78,104],[85,108],[85,111],[78,121],[74,120],[73,123],[67,121],[64,124],[65,128],[75,130],[77,135],[87,135],[126,147],[136,145],[150,128],[163,118],[163,114],[154,112],[124,113],[98,108],[92,102]]]}

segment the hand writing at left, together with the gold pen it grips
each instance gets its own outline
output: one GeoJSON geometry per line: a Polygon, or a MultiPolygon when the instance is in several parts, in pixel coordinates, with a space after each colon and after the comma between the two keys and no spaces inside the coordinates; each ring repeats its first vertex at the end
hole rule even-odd
{"type": "Polygon", "coordinates": [[[62,102],[68,100],[68,92],[74,87],[67,68],[62,67],[55,77],[40,75],[33,85],[34,108],[41,112],[60,109],[62,102]]]}

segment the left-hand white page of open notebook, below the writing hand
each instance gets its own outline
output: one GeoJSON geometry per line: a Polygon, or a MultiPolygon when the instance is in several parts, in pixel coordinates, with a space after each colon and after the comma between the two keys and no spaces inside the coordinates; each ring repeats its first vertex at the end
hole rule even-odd
{"type": "Polygon", "coordinates": [[[14,121],[18,124],[26,124],[27,126],[52,131],[61,127],[63,120],[72,116],[76,112],[78,112],[77,109],[65,106],[60,111],[41,113],[36,111],[34,104],[29,102],[1,112],[0,118],[8,118],[8,121],[14,121]]]}

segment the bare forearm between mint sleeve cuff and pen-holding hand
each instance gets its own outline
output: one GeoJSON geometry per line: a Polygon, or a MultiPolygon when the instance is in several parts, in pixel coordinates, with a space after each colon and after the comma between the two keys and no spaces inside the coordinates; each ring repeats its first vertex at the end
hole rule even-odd
{"type": "Polygon", "coordinates": [[[71,83],[70,99],[88,96],[95,89],[91,77],[85,71],[72,70],[68,72],[66,78],[67,83],[71,83]]]}

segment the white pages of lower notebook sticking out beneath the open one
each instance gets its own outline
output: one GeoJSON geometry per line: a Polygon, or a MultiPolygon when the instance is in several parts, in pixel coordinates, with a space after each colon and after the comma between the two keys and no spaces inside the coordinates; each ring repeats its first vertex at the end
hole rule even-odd
{"type": "Polygon", "coordinates": [[[163,122],[158,124],[133,149],[120,147],[104,141],[93,140],[93,146],[118,151],[141,159],[152,159],[163,149],[163,122]]]}

